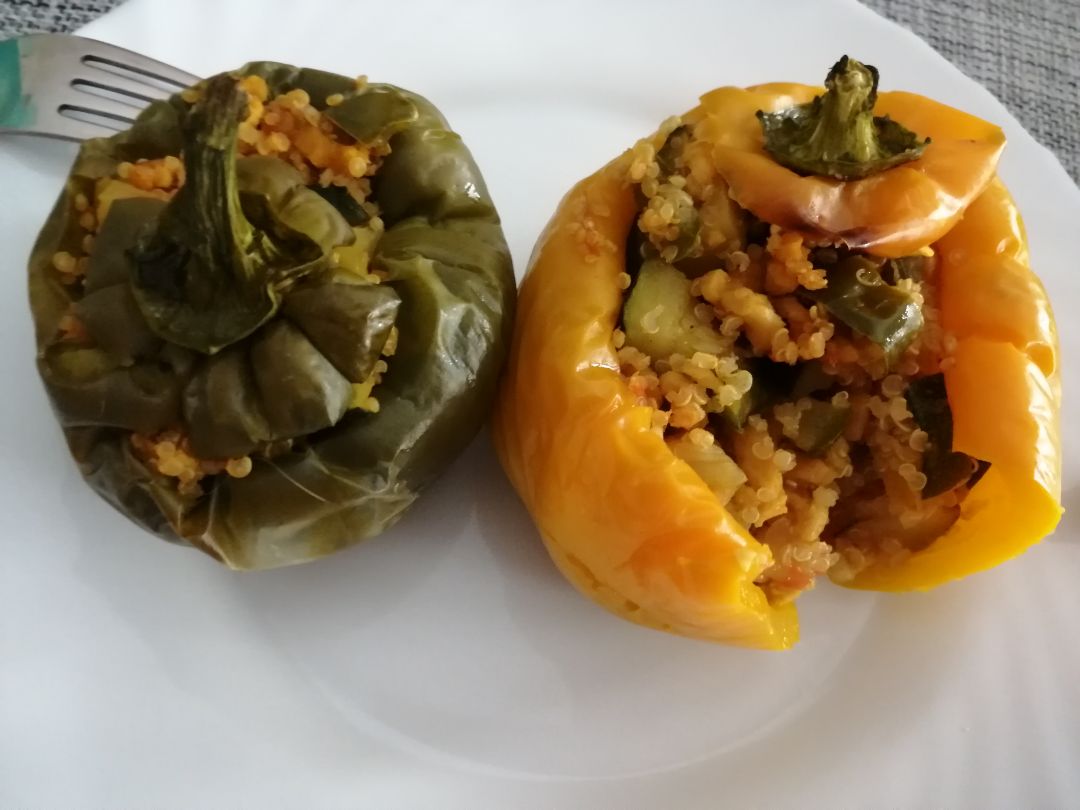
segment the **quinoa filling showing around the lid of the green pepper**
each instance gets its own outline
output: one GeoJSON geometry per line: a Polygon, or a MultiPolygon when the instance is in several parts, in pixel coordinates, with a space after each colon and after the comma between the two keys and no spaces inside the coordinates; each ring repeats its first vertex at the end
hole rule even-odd
{"type": "MultiPolygon", "coordinates": [[[[281,160],[299,172],[308,188],[324,195],[336,207],[348,208],[354,239],[351,244],[333,251],[329,270],[338,276],[348,276],[350,284],[382,282],[383,273],[372,268],[369,259],[384,226],[378,205],[368,197],[372,178],[390,153],[389,141],[380,137],[372,143],[360,143],[337,127],[320,107],[325,109],[341,104],[341,95],[332,95],[316,107],[302,90],[271,95],[259,76],[246,76],[238,83],[247,97],[246,116],[237,132],[238,154],[281,160]]],[[[357,89],[365,85],[366,78],[360,77],[357,89]]],[[[201,94],[202,87],[195,86],[184,91],[181,98],[195,104],[201,94]]],[[[184,186],[185,175],[183,154],[121,162],[111,174],[75,195],[72,204],[82,233],[81,251],[55,254],[53,268],[59,281],[75,293],[76,301],[83,294],[94,242],[110,207],[130,198],[172,200],[184,186]]],[[[75,306],[60,319],[58,338],[73,347],[95,346],[75,306]]],[[[389,369],[396,347],[397,327],[394,326],[381,349],[382,359],[375,363],[370,375],[361,382],[351,383],[350,409],[379,410],[378,384],[389,369]]],[[[237,458],[200,458],[183,423],[153,435],[132,433],[130,441],[135,457],[153,472],[172,480],[179,495],[199,497],[205,491],[207,478],[216,475],[244,477],[252,471],[253,457],[272,458],[288,451],[302,438],[266,443],[256,453],[237,458]]]]}

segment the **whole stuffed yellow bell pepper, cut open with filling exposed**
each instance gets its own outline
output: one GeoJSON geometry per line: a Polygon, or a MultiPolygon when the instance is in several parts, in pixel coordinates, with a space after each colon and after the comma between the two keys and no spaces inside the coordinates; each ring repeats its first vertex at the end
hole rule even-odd
{"type": "Polygon", "coordinates": [[[1061,516],[1057,338],[985,121],[845,57],[721,87],[575,187],[495,438],[609,610],[783,649],[825,576],[928,589],[1061,516]]]}

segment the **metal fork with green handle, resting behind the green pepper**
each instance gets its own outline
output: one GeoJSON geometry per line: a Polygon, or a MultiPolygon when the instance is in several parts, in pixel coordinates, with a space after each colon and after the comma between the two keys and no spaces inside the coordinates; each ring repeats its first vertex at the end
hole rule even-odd
{"type": "Polygon", "coordinates": [[[65,33],[0,42],[0,133],[65,140],[124,130],[150,102],[199,77],[134,51],[65,33]]]}

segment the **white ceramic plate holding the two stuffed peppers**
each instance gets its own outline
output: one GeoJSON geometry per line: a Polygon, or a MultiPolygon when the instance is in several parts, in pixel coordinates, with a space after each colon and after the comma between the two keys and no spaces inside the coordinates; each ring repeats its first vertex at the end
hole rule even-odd
{"type": "MultiPolygon", "coordinates": [[[[698,93],[815,81],[850,52],[1004,126],[1080,390],[1080,191],[988,93],[853,2],[133,0],[85,32],[200,75],[273,58],[428,95],[518,272],[569,186],[698,93]]],[[[238,575],[141,535],[79,480],[32,365],[25,258],[70,157],[0,141],[0,806],[1075,806],[1076,517],[929,594],[823,585],[788,653],[580,597],[486,436],[387,536],[314,565],[238,575]]]]}

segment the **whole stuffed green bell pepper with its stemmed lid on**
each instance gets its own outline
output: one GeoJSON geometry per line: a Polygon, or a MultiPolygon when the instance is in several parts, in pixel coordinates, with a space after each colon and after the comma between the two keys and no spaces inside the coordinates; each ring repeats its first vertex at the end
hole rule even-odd
{"type": "Polygon", "coordinates": [[[90,485],[240,569],[401,517],[483,422],[514,303],[499,217],[440,112],[274,63],[84,143],[29,291],[90,485]]]}

